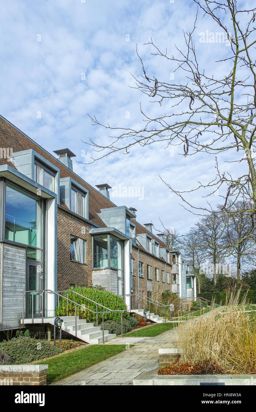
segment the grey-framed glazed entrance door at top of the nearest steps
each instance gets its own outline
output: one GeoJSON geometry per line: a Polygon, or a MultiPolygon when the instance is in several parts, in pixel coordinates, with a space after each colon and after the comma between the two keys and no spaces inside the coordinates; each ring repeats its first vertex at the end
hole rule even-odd
{"type": "Polygon", "coordinates": [[[39,317],[42,314],[42,296],[41,293],[32,292],[33,290],[42,290],[43,273],[42,264],[36,262],[28,262],[28,280],[27,280],[27,317],[39,317]]]}

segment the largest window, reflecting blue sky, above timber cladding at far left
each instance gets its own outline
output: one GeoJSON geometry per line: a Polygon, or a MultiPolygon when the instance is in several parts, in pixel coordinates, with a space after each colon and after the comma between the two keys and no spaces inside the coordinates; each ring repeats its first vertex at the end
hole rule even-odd
{"type": "Polygon", "coordinates": [[[42,248],[42,201],[6,184],[5,239],[42,248]]]}

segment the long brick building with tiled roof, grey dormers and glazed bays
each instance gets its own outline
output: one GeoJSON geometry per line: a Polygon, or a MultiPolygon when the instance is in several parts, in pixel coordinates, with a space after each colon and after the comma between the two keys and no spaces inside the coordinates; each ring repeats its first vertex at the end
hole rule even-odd
{"type": "Polygon", "coordinates": [[[53,294],[33,291],[97,284],[129,309],[131,294],[186,297],[189,279],[195,296],[180,252],[138,223],[136,209],[113,204],[108,184],[76,175],[71,150],[54,153],[0,117],[0,330],[18,328],[23,311],[54,316],[53,294]]]}

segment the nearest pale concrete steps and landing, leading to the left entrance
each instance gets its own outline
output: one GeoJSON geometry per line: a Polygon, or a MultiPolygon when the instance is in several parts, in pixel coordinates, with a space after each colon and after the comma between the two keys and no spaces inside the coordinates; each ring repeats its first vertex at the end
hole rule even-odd
{"type": "MultiPolygon", "coordinates": [[[[79,316],[76,316],[77,321],[75,321],[75,316],[60,316],[60,318],[63,320],[61,329],[70,335],[76,336],[77,325],[77,337],[79,339],[92,345],[103,343],[102,330],[100,326],[94,326],[93,323],[87,323],[85,319],[79,319],[79,316]]],[[[53,325],[54,319],[55,318],[44,318],[43,324],[50,323],[53,325]]],[[[41,318],[38,320],[41,321],[41,318]]],[[[31,318],[24,319],[24,324],[28,323],[32,323],[31,318]]],[[[34,318],[34,323],[36,323],[36,318],[34,318]]],[[[115,339],[115,337],[115,333],[108,333],[108,330],[104,330],[104,342],[115,339]]]]}

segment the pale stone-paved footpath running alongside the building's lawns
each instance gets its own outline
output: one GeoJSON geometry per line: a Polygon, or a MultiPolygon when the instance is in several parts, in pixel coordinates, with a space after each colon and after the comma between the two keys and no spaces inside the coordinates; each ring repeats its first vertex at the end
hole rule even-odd
{"type": "MultiPolygon", "coordinates": [[[[219,311],[220,309],[222,307],[213,310],[219,311]]],[[[209,316],[209,312],[202,316],[209,316]]],[[[176,327],[155,337],[117,337],[107,344],[125,344],[127,345],[126,351],[52,385],[132,385],[135,377],[159,367],[159,348],[177,347],[177,332],[176,327]],[[129,344],[134,346],[129,348],[129,344]]]]}

